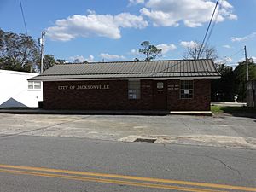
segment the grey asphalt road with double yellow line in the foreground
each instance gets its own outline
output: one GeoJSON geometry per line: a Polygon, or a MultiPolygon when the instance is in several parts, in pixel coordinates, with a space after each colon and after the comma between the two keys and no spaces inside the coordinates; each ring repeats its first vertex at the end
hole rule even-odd
{"type": "Polygon", "coordinates": [[[0,137],[1,192],[242,190],[256,191],[252,149],[0,137]]]}

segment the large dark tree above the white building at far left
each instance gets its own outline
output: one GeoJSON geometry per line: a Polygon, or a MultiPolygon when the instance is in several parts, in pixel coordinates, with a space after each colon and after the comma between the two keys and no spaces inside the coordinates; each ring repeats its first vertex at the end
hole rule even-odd
{"type": "Polygon", "coordinates": [[[1,69],[34,71],[39,63],[39,49],[32,37],[0,29],[0,39],[1,69]]]}

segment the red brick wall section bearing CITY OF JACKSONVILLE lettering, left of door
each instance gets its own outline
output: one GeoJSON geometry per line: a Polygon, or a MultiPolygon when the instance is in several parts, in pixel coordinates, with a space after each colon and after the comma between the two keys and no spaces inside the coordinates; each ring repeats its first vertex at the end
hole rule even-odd
{"type": "Polygon", "coordinates": [[[63,81],[44,82],[45,109],[150,109],[152,108],[151,81],[141,81],[141,99],[128,99],[128,81],[63,81]],[[71,90],[70,86],[108,84],[108,90],[71,90]],[[59,86],[68,86],[59,90],[59,86]]]}

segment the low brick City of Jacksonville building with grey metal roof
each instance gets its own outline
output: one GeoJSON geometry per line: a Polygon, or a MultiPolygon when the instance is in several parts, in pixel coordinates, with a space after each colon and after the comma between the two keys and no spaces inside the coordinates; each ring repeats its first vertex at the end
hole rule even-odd
{"type": "Polygon", "coordinates": [[[43,81],[45,109],[210,110],[212,60],[117,61],[55,65],[43,81]]]}

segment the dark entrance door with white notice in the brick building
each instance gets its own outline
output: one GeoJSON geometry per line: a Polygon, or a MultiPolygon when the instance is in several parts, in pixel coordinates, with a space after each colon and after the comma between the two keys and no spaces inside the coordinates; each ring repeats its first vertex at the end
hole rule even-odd
{"type": "Polygon", "coordinates": [[[154,109],[167,108],[167,84],[165,80],[154,81],[154,109]]]}

